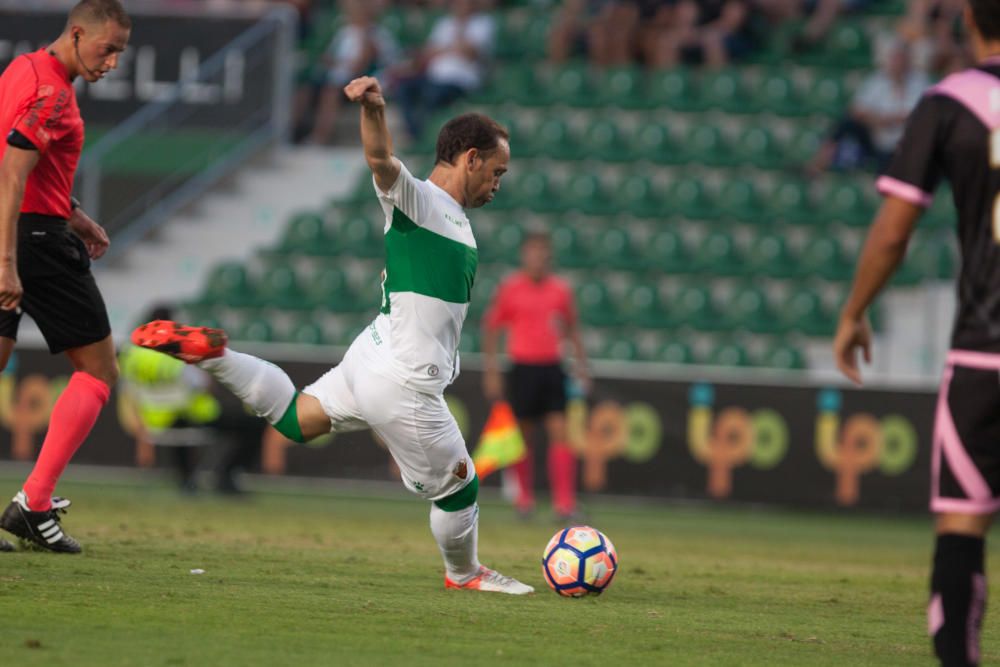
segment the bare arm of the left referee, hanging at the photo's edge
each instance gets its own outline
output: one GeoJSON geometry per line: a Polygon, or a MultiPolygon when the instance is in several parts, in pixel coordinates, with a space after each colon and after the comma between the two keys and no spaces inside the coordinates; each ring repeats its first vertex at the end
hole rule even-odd
{"type": "Polygon", "coordinates": [[[7,146],[0,162],[0,308],[13,310],[21,302],[17,275],[17,217],[24,188],[38,164],[38,151],[7,146]]]}

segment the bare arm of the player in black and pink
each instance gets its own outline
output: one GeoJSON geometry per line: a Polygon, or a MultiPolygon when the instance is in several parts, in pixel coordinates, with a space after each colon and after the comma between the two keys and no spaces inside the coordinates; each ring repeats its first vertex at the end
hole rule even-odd
{"type": "Polygon", "coordinates": [[[833,339],[833,358],[837,368],[857,385],[861,384],[858,352],[869,363],[872,354],[871,327],[865,314],[903,261],[913,227],[923,212],[924,209],[916,204],[898,197],[886,197],[861,249],[851,293],[840,313],[833,339]]]}

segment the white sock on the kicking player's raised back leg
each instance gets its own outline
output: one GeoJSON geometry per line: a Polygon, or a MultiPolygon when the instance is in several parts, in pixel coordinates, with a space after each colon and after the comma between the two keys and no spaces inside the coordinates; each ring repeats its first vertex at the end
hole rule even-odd
{"type": "Polygon", "coordinates": [[[269,361],[227,349],[221,357],[198,366],[271,424],[278,423],[295,400],[291,378],[269,361]]]}

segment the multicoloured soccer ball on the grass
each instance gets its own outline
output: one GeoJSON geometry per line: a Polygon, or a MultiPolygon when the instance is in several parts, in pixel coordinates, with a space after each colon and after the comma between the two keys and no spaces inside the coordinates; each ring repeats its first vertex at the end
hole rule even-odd
{"type": "Polygon", "coordinates": [[[542,554],[542,572],[559,595],[600,595],[618,570],[615,545],[590,526],[564,528],[552,536],[542,554]]]}

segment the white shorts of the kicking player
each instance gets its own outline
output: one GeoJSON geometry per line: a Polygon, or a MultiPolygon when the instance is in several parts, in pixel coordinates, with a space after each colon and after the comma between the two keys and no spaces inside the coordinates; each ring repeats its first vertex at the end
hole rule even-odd
{"type": "Polygon", "coordinates": [[[444,396],[407,389],[374,373],[358,343],[339,366],[302,390],[319,400],[331,431],[370,427],[389,448],[403,484],[423,498],[440,500],[465,488],[476,470],[444,396]]]}

